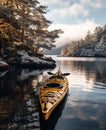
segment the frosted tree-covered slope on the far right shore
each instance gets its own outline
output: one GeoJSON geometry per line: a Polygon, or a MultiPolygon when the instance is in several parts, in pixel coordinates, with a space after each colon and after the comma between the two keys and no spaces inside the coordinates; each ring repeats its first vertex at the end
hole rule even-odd
{"type": "Polygon", "coordinates": [[[94,33],[90,31],[84,39],[73,41],[61,50],[62,56],[106,56],[106,25],[96,27],[94,33]]]}

